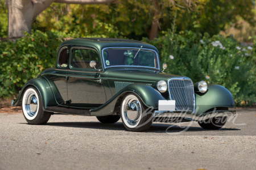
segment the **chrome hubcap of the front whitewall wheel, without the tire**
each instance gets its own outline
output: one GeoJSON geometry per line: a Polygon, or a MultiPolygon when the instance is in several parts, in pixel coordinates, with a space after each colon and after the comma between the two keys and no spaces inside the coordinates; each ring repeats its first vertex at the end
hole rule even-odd
{"type": "Polygon", "coordinates": [[[135,97],[129,97],[125,102],[124,116],[127,123],[135,126],[141,120],[141,105],[135,97]]]}

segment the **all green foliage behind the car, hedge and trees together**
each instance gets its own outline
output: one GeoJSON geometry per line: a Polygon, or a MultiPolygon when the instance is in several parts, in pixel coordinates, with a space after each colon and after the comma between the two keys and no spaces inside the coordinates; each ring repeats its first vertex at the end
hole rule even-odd
{"type": "MultiPolygon", "coordinates": [[[[193,2],[196,6],[190,10],[183,4],[170,6],[168,0],[118,0],[108,5],[53,3],[36,18],[32,25],[36,31],[31,35],[26,33],[15,43],[0,41],[0,98],[16,95],[29,79],[53,67],[57,48],[67,38],[113,37],[149,42],[158,48],[161,62],[168,64],[167,73],[188,76],[193,82],[221,84],[237,105],[255,104],[255,1],[193,2]],[[159,10],[156,2],[160,31],[158,38],[150,41],[147,37],[159,10]],[[240,30],[241,20],[249,25],[245,30],[250,31],[245,32],[250,36],[236,35],[250,42],[252,49],[225,33],[231,27],[240,30]]],[[[5,38],[5,0],[0,0],[0,18],[0,37],[5,38]]]]}

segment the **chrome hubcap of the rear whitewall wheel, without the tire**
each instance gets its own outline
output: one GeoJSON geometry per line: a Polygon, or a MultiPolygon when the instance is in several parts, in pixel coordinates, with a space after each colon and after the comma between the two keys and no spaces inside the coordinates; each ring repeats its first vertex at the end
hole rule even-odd
{"type": "Polygon", "coordinates": [[[38,111],[38,99],[34,92],[30,92],[26,96],[25,109],[28,116],[35,116],[36,111],[38,111]]]}

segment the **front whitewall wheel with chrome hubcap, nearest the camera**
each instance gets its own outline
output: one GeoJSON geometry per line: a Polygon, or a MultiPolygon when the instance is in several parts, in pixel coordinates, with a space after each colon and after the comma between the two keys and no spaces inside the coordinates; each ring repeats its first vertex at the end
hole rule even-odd
{"type": "Polygon", "coordinates": [[[121,103],[123,125],[129,131],[145,131],[152,124],[152,113],[135,94],[127,94],[121,103]]]}

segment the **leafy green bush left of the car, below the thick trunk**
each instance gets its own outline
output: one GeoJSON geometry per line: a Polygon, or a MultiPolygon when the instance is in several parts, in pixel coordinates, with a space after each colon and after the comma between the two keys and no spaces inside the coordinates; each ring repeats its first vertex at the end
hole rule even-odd
{"type": "Polygon", "coordinates": [[[32,32],[16,42],[0,42],[0,97],[17,92],[28,80],[55,64],[57,48],[63,33],[32,32]]]}

